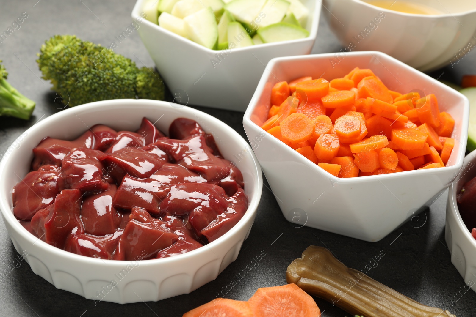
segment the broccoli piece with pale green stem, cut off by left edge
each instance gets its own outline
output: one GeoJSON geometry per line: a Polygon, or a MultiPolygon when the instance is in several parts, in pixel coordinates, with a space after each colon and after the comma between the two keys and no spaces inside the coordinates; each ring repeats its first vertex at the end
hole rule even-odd
{"type": "Polygon", "coordinates": [[[10,115],[20,119],[30,119],[35,102],[13,88],[8,82],[8,73],[0,59],[0,115],[10,115]]]}

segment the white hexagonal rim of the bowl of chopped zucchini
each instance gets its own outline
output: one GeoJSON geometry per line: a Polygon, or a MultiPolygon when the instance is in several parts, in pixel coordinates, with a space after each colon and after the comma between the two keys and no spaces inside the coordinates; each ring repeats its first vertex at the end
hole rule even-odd
{"type": "Polygon", "coordinates": [[[219,54],[223,51],[226,51],[227,54],[230,54],[230,53],[235,52],[235,51],[247,51],[247,50],[253,51],[253,50],[259,49],[260,47],[273,47],[273,46],[278,47],[279,45],[282,45],[282,44],[294,44],[294,43],[306,42],[309,39],[312,40],[312,41],[316,41],[317,27],[318,27],[318,22],[319,22],[319,18],[320,18],[320,11],[321,11],[321,2],[317,1],[316,5],[315,5],[315,8],[314,8],[314,12],[312,14],[313,15],[313,20],[312,20],[312,24],[311,24],[311,28],[310,28],[311,30],[309,31],[309,36],[306,37],[306,38],[292,39],[292,40],[288,40],[288,41],[273,42],[273,43],[263,43],[263,44],[251,45],[251,46],[247,46],[247,47],[243,47],[243,48],[211,49],[211,48],[206,48],[203,45],[200,45],[198,43],[195,43],[191,39],[184,38],[183,36],[180,36],[180,35],[172,32],[172,31],[169,31],[168,29],[161,28],[161,27],[159,27],[158,24],[152,23],[149,20],[140,17],[139,2],[142,3],[143,0],[137,0],[136,4],[134,5],[134,9],[132,10],[132,13],[131,13],[131,17],[132,17],[133,20],[136,21],[138,18],[143,19],[143,21],[142,21],[143,23],[145,22],[146,24],[148,24],[150,27],[154,28],[155,30],[158,30],[160,32],[164,32],[165,34],[167,34],[167,35],[169,35],[173,38],[176,38],[177,40],[180,40],[184,43],[187,43],[188,45],[192,45],[196,48],[202,49],[204,52],[215,53],[215,54],[217,54],[217,53],[219,54]]]}

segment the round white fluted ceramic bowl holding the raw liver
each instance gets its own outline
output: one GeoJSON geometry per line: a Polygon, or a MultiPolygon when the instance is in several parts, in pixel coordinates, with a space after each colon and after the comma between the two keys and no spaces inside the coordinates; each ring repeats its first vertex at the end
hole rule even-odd
{"type": "Polygon", "coordinates": [[[158,120],[156,126],[167,132],[178,117],[196,120],[212,133],[224,157],[249,149],[247,142],[231,127],[201,111],[154,100],[119,99],[93,102],[51,115],[33,125],[10,146],[0,163],[0,209],[10,239],[34,273],[56,288],[88,299],[116,303],[157,301],[189,293],[215,279],[238,257],[248,237],[261,197],[261,169],[251,151],[236,162],[243,173],[249,207],[243,218],[219,239],[197,250],[165,259],[116,261],[93,259],[55,248],[38,240],[15,219],[12,212],[13,186],[29,172],[32,148],[49,135],[72,139],[95,124],[115,129],[135,130],[143,116],[158,120]],[[179,107],[179,108],[178,108],[179,107]],[[119,272],[126,270],[119,280],[119,272]],[[111,281],[117,286],[112,287],[111,281]],[[102,295],[100,295],[102,294],[102,295]]]}

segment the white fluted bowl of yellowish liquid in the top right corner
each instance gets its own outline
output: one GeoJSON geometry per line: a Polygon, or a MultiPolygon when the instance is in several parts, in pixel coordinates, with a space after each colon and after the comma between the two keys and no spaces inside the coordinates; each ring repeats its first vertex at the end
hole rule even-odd
{"type": "Polygon", "coordinates": [[[410,2],[428,5],[444,14],[402,13],[382,9],[362,0],[324,0],[324,6],[328,9],[324,12],[344,48],[349,48],[353,43],[355,48],[350,47],[352,51],[381,51],[421,71],[447,64],[456,65],[474,48],[474,0],[410,2]],[[384,18],[379,20],[379,14],[383,14],[384,18]],[[379,23],[375,23],[375,18],[379,23]],[[363,34],[357,38],[361,32],[363,34]],[[455,54],[458,54],[457,58],[455,54]]]}

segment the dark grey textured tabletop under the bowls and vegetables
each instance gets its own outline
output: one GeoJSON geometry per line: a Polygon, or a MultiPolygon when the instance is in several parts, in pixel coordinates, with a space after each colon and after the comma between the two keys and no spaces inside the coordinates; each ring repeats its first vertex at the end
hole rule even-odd
{"type": "MultiPolygon", "coordinates": [[[[319,2],[319,0],[317,0],[319,2]]],[[[62,106],[55,104],[50,83],[40,78],[36,54],[45,39],[54,34],[76,34],[79,38],[109,44],[130,24],[134,0],[2,0],[0,32],[26,12],[28,18],[0,43],[0,59],[10,72],[9,82],[37,103],[30,121],[0,117],[0,154],[28,127],[52,115],[62,106]],[[37,2],[38,1],[38,2],[37,2]]],[[[323,10],[325,10],[323,8],[323,10]]],[[[322,16],[313,53],[336,52],[341,48],[322,16]]],[[[153,62],[136,32],[115,50],[134,60],[138,66],[153,62]]],[[[471,51],[454,67],[430,75],[459,83],[463,74],[476,74],[476,52],[471,51]]],[[[243,113],[205,107],[198,109],[216,116],[244,138],[243,113]]],[[[448,309],[458,317],[476,316],[476,293],[465,291],[465,282],[451,264],[445,242],[447,191],[433,205],[407,221],[379,242],[364,242],[312,228],[295,228],[286,221],[265,180],[256,221],[238,255],[216,280],[188,294],[161,300],[119,305],[88,300],[55,288],[35,275],[25,261],[17,261],[3,221],[0,220],[0,316],[182,316],[217,297],[231,279],[262,250],[266,256],[239,280],[226,298],[247,300],[259,287],[286,283],[288,264],[313,244],[327,247],[348,267],[361,270],[381,250],[385,256],[368,271],[377,281],[423,304],[448,309]]],[[[345,311],[315,298],[322,316],[345,317],[345,311]]]]}

